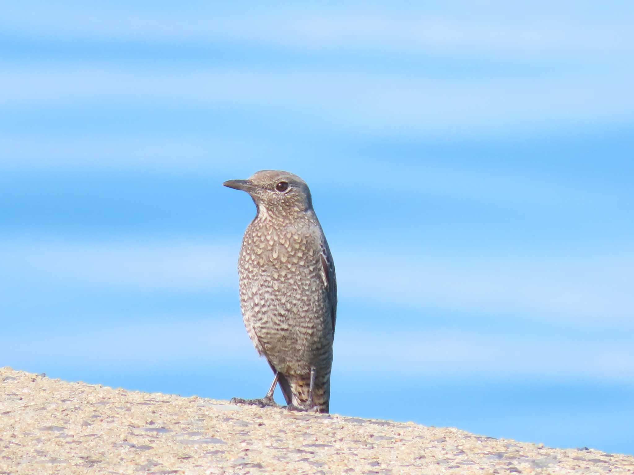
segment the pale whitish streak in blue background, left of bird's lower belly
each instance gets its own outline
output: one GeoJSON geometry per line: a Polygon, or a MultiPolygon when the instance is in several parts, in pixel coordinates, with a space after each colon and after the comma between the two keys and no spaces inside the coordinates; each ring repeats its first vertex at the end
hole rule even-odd
{"type": "MultiPolygon", "coordinates": [[[[61,322],[63,323],[63,322],[61,322]]],[[[143,370],[249,364],[257,358],[240,315],[121,315],[72,324],[18,328],[0,336],[0,360],[11,365],[122,367],[143,370]],[[28,350],[28,351],[25,351],[28,350]]]]}

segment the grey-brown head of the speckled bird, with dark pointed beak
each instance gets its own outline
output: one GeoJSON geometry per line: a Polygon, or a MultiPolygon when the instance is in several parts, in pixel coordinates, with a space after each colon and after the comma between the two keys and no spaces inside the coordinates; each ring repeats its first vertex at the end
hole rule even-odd
{"type": "Polygon", "coordinates": [[[246,180],[229,180],[223,185],[249,193],[258,215],[285,217],[313,209],[306,182],[281,170],[260,170],[246,180]]]}

